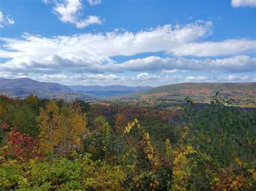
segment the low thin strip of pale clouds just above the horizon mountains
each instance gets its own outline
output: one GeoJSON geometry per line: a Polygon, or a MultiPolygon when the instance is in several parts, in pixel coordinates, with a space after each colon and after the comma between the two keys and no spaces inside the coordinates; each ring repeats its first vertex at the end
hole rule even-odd
{"type": "MultiPolygon", "coordinates": [[[[26,77],[25,75],[23,77],[26,77]]],[[[76,75],[41,75],[32,77],[34,80],[43,82],[58,82],[62,84],[80,84],[80,85],[100,85],[120,84],[125,86],[163,86],[165,84],[184,83],[184,82],[256,82],[253,76],[180,76],[180,75],[152,75],[149,73],[140,73],[134,76],[118,76],[114,74],[76,74],[76,75]]]]}

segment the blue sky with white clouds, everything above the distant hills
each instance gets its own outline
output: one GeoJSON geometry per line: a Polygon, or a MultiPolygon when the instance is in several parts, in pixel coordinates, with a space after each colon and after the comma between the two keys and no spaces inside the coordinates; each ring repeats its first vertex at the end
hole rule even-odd
{"type": "Polygon", "coordinates": [[[0,77],[256,82],[256,0],[0,0],[0,77]]]}

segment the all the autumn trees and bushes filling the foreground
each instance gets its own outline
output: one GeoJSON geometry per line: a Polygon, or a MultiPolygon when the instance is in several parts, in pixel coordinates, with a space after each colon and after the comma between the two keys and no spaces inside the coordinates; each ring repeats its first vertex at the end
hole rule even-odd
{"type": "Polygon", "coordinates": [[[256,114],[0,96],[0,188],[255,190],[256,114]]]}

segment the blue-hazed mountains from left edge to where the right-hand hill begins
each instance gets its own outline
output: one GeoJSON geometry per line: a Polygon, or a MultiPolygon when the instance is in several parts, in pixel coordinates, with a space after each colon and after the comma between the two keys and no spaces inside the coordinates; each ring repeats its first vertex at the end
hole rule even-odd
{"type": "Polygon", "coordinates": [[[97,97],[97,96],[116,96],[122,94],[136,93],[137,91],[150,89],[150,86],[64,86],[59,83],[38,82],[28,78],[5,79],[0,77],[0,94],[11,97],[26,97],[34,94],[40,97],[97,97]]]}

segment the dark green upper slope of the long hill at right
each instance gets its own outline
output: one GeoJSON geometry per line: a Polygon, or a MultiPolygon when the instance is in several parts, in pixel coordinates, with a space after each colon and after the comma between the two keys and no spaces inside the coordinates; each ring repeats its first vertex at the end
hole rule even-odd
{"type": "Polygon", "coordinates": [[[149,94],[159,94],[159,93],[170,93],[172,91],[183,91],[183,90],[211,90],[211,91],[232,91],[232,92],[244,92],[253,93],[256,92],[256,83],[178,83],[171,84],[167,86],[159,86],[156,88],[151,88],[145,91],[140,91],[137,95],[149,95],[149,94]]]}

